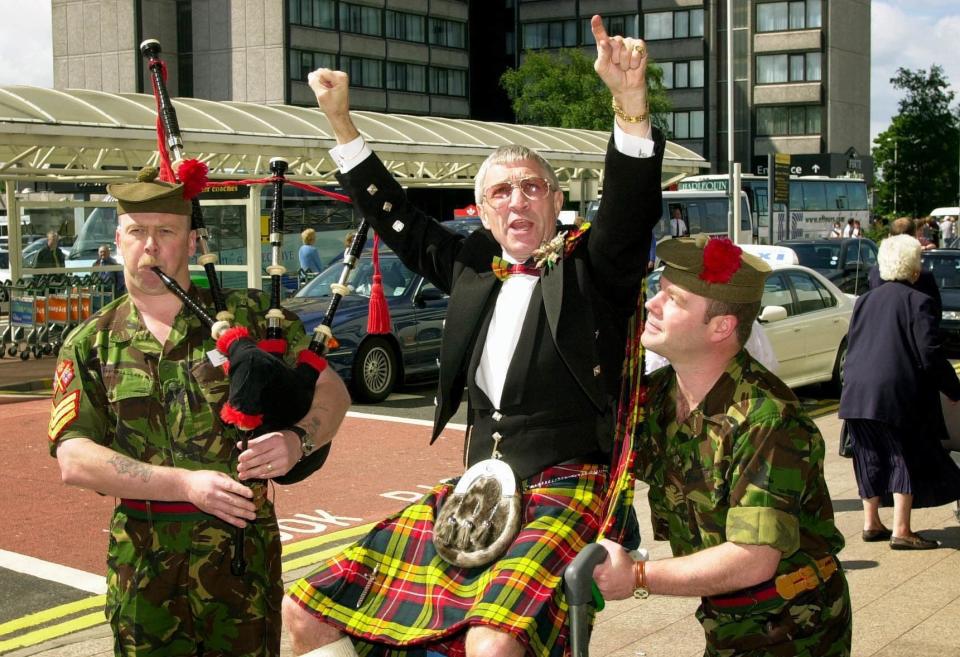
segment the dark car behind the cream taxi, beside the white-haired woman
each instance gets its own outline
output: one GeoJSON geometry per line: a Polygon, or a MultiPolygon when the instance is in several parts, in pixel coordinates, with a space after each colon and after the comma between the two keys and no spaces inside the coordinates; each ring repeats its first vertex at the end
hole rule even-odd
{"type": "Polygon", "coordinates": [[[797,254],[799,264],[825,276],[848,294],[870,289],[867,274],[877,264],[877,245],[865,237],[777,242],[797,254]]]}

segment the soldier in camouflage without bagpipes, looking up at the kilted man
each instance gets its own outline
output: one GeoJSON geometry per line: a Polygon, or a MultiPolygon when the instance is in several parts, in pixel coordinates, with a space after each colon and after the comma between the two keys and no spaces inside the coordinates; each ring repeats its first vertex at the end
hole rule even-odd
{"type": "Polygon", "coordinates": [[[769,267],[726,238],[669,240],[642,342],[670,366],[650,380],[637,477],[672,559],[634,561],[604,541],[608,598],[699,596],[711,657],[848,656],[843,537],[824,444],[796,396],[742,345],[769,267]]]}

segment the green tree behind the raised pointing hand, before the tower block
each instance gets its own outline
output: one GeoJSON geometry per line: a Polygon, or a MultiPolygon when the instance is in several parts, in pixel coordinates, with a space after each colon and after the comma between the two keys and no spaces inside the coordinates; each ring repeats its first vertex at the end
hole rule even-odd
{"type": "MultiPolygon", "coordinates": [[[[659,66],[648,63],[647,81],[653,121],[663,128],[670,101],[659,66]]],[[[500,86],[520,123],[604,131],[612,125],[610,91],[582,50],[527,51],[519,68],[507,69],[501,76],[500,86]]]]}

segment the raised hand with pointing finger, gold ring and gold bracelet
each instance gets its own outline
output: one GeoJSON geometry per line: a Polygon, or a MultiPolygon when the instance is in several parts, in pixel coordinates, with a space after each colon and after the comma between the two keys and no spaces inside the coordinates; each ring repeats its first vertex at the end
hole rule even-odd
{"type": "MultiPolygon", "coordinates": [[[[643,39],[609,36],[599,16],[590,20],[590,28],[597,42],[597,59],[593,69],[607,85],[613,99],[627,116],[648,114],[648,53],[643,39]]],[[[643,137],[650,134],[649,117],[637,123],[617,120],[626,132],[643,137]]]]}

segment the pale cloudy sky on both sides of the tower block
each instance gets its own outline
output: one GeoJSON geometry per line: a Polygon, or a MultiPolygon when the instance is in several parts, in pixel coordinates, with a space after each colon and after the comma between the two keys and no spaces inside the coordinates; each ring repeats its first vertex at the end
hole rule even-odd
{"type": "MultiPolygon", "coordinates": [[[[850,2],[851,0],[827,0],[850,2]]],[[[53,86],[48,0],[0,0],[0,86],[53,86]]],[[[900,99],[890,85],[898,67],[944,68],[960,102],[960,2],[874,0],[871,3],[870,138],[890,124],[900,99]]]]}

